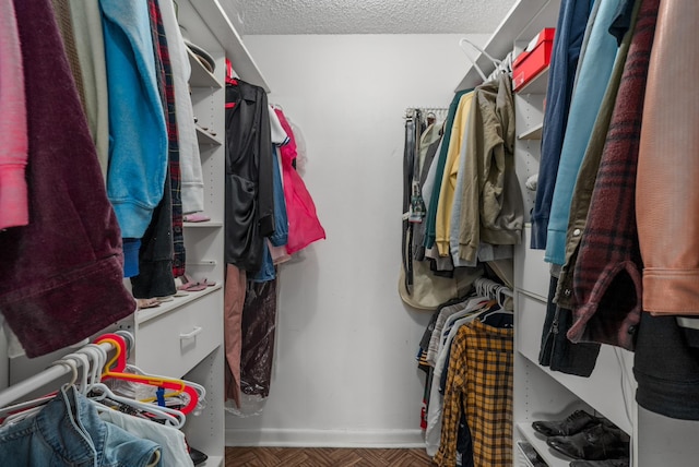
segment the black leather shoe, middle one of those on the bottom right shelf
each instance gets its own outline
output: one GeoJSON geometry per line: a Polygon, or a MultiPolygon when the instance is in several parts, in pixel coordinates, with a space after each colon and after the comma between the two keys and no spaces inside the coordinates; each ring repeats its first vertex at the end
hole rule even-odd
{"type": "Polygon", "coordinates": [[[572,436],[550,436],[546,444],[574,459],[605,460],[628,457],[629,441],[618,428],[600,423],[572,436]]]}

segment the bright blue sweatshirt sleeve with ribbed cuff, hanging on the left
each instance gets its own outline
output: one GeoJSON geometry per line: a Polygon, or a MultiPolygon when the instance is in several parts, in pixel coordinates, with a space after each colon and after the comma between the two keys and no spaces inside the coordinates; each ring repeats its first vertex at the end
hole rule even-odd
{"type": "Polygon", "coordinates": [[[107,194],[121,235],[141,238],[163,197],[167,128],[157,85],[149,7],[99,0],[109,79],[107,194]]]}

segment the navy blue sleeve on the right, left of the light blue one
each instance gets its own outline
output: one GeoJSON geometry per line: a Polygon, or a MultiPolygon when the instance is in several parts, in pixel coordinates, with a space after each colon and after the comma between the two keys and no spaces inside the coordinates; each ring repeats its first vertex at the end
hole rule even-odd
{"type": "Polygon", "coordinates": [[[562,0],[558,13],[554,48],[548,70],[544,133],[538,166],[536,200],[532,211],[531,248],[544,250],[560,149],[568,127],[570,99],[578,69],[580,48],[594,0],[562,0]]]}

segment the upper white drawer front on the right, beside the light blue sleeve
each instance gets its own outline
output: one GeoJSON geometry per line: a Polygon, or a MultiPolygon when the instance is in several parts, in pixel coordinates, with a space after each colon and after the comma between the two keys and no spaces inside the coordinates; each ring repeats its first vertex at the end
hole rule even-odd
{"type": "Polygon", "coordinates": [[[544,261],[544,250],[529,248],[532,227],[524,227],[522,243],[514,246],[514,288],[546,300],[550,282],[549,264],[544,261]]]}

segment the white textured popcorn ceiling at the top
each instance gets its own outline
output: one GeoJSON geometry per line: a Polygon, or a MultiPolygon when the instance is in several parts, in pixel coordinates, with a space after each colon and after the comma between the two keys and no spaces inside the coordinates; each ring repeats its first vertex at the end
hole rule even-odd
{"type": "Polygon", "coordinates": [[[516,0],[221,0],[250,34],[491,33],[516,0]]]}

